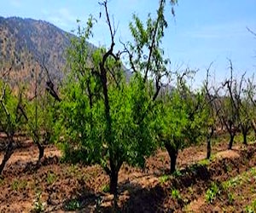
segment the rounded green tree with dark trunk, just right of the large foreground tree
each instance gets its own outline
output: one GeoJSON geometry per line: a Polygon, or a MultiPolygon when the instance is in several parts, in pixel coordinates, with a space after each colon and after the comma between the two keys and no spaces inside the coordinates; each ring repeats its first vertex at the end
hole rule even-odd
{"type": "Polygon", "coordinates": [[[207,118],[201,106],[204,95],[193,93],[183,78],[178,78],[177,88],[163,96],[159,108],[159,140],[171,158],[171,173],[176,170],[178,151],[204,135],[207,118]]]}

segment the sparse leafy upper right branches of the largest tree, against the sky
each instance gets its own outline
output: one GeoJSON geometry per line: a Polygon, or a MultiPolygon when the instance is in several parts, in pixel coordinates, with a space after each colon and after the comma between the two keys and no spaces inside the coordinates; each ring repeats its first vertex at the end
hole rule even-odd
{"type": "Polygon", "coordinates": [[[146,23],[133,14],[129,27],[134,42],[128,42],[126,49],[133,72],[140,72],[144,82],[148,78],[155,80],[156,87],[159,86],[160,78],[168,74],[166,66],[170,63],[170,60],[164,59],[164,50],[160,48],[167,27],[165,7],[166,1],[161,0],[157,17],[154,19],[148,14],[146,23]]]}

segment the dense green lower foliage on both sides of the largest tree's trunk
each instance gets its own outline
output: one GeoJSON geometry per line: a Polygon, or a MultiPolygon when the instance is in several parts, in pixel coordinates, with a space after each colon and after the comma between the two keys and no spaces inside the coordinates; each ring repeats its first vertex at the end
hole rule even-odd
{"type": "MultiPolygon", "coordinates": [[[[143,166],[143,155],[149,155],[150,149],[154,148],[154,114],[148,112],[143,119],[140,117],[143,116],[140,112],[146,110],[148,97],[137,81],[137,78],[132,78],[131,83],[123,83],[121,90],[109,87],[113,127],[111,148],[127,163],[143,166]]],[[[66,141],[61,145],[66,158],[74,157],[73,161],[82,160],[88,164],[107,164],[110,144],[106,143],[107,135],[104,134],[106,124],[102,99],[95,100],[90,107],[89,97],[76,82],[68,84],[65,96],[66,99],[61,101],[60,130],[66,141]]]]}

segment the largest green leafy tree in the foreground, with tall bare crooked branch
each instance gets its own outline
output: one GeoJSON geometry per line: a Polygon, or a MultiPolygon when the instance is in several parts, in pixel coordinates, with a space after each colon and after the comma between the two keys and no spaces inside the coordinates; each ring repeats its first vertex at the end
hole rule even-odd
{"type": "Polygon", "coordinates": [[[143,166],[145,157],[156,147],[153,103],[167,63],[159,48],[166,28],[165,1],[160,1],[156,20],[148,17],[147,27],[133,17],[130,28],[135,42],[124,44],[125,49],[117,54],[113,52],[116,29],[109,19],[107,1],[101,5],[110,46],[92,49],[86,43],[95,24],[92,17],[85,29],[79,26],[79,37],[73,39],[67,54],[71,72],[62,91],[56,130],[62,136],[65,158],[101,164],[110,178],[110,193],[116,195],[121,165],[143,166]],[[125,80],[121,54],[128,55],[134,72],[129,82],[125,80]]]}

